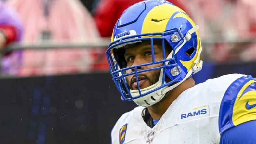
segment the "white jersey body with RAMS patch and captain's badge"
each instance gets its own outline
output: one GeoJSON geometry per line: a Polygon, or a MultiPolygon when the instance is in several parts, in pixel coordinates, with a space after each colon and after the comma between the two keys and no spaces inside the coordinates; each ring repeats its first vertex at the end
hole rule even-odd
{"type": "Polygon", "coordinates": [[[150,128],[142,118],[145,107],[123,114],[111,132],[112,144],[218,144],[219,111],[225,92],[246,75],[229,74],[185,90],[150,128]]]}

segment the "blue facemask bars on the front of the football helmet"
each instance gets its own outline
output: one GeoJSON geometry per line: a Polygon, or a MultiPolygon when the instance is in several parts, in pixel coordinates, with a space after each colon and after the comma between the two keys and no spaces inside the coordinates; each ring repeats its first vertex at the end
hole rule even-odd
{"type": "MultiPolygon", "coordinates": [[[[121,38],[120,40],[117,40],[115,42],[112,42],[109,44],[109,48],[107,49],[106,51],[106,56],[108,57],[108,63],[109,63],[109,69],[110,69],[110,72],[111,72],[111,75],[113,77],[113,80],[114,80],[114,83],[116,85],[116,87],[118,88],[118,91],[121,93],[121,96],[122,96],[122,100],[123,101],[130,101],[130,100],[133,100],[133,99],[137,99],[139,97],[143,97],[149,93],[152,93],[154,91],[157,91],[161,88],[164,88],[172,83],[174,83],[178,78],[180,78],[181,74],[179,74],[179,76],[175,79],[173,79],[172,81],[166,83],[165,82],[165,73],[166,73],[166,68],[168,67],[175,67],[177,66],[177,63],[175,62],[175,59],[174,57],[172,56],[171,58],[167,58],[165,59],[165,37],[166,35],[171,35],[175,33],[176,35],[178,34],[179,37],[181,38],[179,41],[177,41],[177,45],[175,46],[175,48],[173,48],[173,51],[175,52],[176,48],[181,45],[183,43],[183,35],[181,34],[181,32],[179,30],[169,30],[169,31],[166,31],[166,32],[163,32],[163,33],[149,33],[149,34],[140,34],[140,35],[133,35],[133,36],[128,36],[128,37],[124,37],[124,38],[121,38]],[[139,37],[142,37],[142,36],[154,36],[154,35],[160,35],[161,37],[145,37],[145,38],[139,38],[139,37]],[[135,38],[135,39],[131,39],[131,38],[135,38]],[[154,43],[153,43],[153,40],[157,40],[157,39],[160,39],[162,40],[162,51],[163,51],[163,60],[160,60],[160,61],[155,61],[155,55],[154,55],[154,43]],[[151,51],[152,51],[152,62],[150,63],[145,63],[145,64],[141,64],[141,65],[136,65],[136,66],[130,66],[130,67],[126,67],[126,68],[122,68],[122,69],[117,69],[115,64],[114,64],[114,61],[112,59],[112,55],[111,55],[111,49],[114,48],[114,47],[118,47],[119,45],[122,45],[122,44],[125,44],[125,43],[131,43],[131,42],[136,42],[136,41],[144,41],[144,40],[150,40],[150,43],[151,43],[151,51]],[[171,65],[167,65],[169,62],[173,63],[171,65]],[[159,63],[163,63],[163,66],[159,66],[159,67],[154,67],[154,68],[149,68],[149,69],[145,69],[145,70],[137,70],[138,67],[141,67],[141,66],[148,66],[148,65],[153,65],[153,64],[159,64],[159,63]],[[131,73],[128,73],[128,74],[124,74],[124,71],[126,70],[129,70],[129,69],[135,69],[134,72],[131,72],[131,73]],[[157,69],[162,69],[163,71],[163,77],[161,79],[161,86],[154,89],[154,90],[151,90],[151,91],[148,91],[146,93],[143,93],[141,92],[141,89],[139,87],[139,82],[138,82],[138,74],[139,73],[143,73],[143,72],[146,72],[146,71],[152,71],[152,70],[157,70],[157,69]],[[121,75],[120,75],[121,74],[121,75]],[[135,96],[135,97],[132,97],[131,96],[131,93],[130,93],[130,90],[127,86],[127,83],[126,83],[126,80],[125,80],[125,77],[126,76],[129,76],[129,75],[136,75],[136,82],[137,82],[137,86],[138,86],[138,92],[139,92],[139,95],[138,96],[135,96]],[[122,85],[122,81],[123,81],[123,85],[122,85]],[[123,89],[125,89],[126,91],[124,91],[123,89]],[[125,95],[129,98],[126,98],[125,95]]],[[[173,51],[171,52],[172,54],[171,55],[174,55],[173,51]]],[[[145,88],[146,89],[146,88],[145,88]]]]}

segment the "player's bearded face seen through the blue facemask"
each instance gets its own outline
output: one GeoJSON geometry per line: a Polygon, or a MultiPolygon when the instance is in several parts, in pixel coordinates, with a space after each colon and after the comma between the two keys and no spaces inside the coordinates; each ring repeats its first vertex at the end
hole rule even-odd
{"type": "MultiPolygon", "coordinates": [[[[162,52],[161,42],[154,42],[154,43],[156,43],[154,44],[155,61],[162,60],[163,52],[162,52]]],[[[170,50],[165,50],[165,51],[166,51],[165,57],[167,57],[168,54],[170,53],[170,50]]],[[[127,63],[127,67],[152,62],[152,51],[151,51],[150,42],[145,41],[145,42],[139,43],[138,45],[135,45],[134,47],[126,48],[124,52],[124,58],[127,63]]],[[[137,67],[137,70],[140,71],[140,70],[154,68],[162,65],[163,63],[149,65],[149,66],[142,66],[142,67],[137,67]]],[[[134,71],[135,71],[135,68],[126,70],[125,73],[127,74],[134,71]]],[[[161,69],[139,73],[138,80],[139,80],[140,89],[147,88],[155,84],[159,79],[160,71],[161,69]]],[[[135,75],[130,75],[125,78],[130,89],[138,90],[135,75]]]]}

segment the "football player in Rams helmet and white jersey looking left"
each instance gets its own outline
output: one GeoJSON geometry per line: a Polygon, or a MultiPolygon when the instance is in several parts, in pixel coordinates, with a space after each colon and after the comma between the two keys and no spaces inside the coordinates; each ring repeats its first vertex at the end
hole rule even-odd
{"type": "Polygon", "coordinates": [[[199,26],[179,7],[147,0],[118,19],[106,51],[123,101],[112,144],[255,144],[256,80],[229,74],[195,85],[199,26]]]}

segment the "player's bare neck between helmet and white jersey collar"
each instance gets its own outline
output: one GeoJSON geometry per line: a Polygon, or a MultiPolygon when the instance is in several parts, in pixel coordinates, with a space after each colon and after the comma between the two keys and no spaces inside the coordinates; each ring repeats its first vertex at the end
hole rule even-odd
{"type": "Polygon", "coordinates": [[[193,78],[186,79],[184,82],[182,82],[180,85],[178,85],[173,90],[170,90],[166,93],[164,98],[152,105],[149,106],[147,109],[153,118],[153,120],[160,119],[162,115],[166,112],[166,110],[170,107],[170,105],[173,103],[174,100],[185,90],[195,86],[195,81],[193,78]]]}

